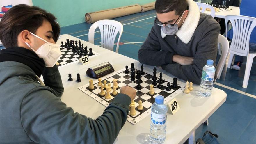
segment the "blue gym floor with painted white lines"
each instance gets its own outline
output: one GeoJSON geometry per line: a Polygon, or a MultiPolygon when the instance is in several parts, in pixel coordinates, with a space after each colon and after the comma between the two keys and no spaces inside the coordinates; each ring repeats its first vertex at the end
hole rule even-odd
{"type": "MultiPolygon", "coordinates": [[[[154,17],[155,10],[151,10],[113,19],[124,25],[119,54],[138,60],[138,50],[153,26],[154,17]]],[[[61,34],[69,34],[88,41],[88,31],[91,25],[81,23],[62,27],[61,34]]],[[[99,45],[100,41],[100,33],[97,32],[94,44],[99,45]]],[[[217,79],[214,87],[224,90],[227,93],[227,100],[211,115],[208,126],[202,124],[196,129],[196,139],[202,138],[203,133],[210,130],[218,134],[218,140],[222,144],[256,143],[256,61],[254,59],[248,87],[242,88],[245,64],[242,64],[239,71],[228,69],[225,65],[221,78],[217,79]]]]}

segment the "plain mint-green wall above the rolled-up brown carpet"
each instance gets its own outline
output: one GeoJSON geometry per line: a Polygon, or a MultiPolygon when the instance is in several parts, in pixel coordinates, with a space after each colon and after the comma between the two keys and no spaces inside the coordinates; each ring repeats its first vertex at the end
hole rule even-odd
{"type": "Polygon", "coordinates": [[[153,1],[155,0],[32,0],[34,6],[54,14],[61,27],[85,22],[85,13],[153,1]]]}

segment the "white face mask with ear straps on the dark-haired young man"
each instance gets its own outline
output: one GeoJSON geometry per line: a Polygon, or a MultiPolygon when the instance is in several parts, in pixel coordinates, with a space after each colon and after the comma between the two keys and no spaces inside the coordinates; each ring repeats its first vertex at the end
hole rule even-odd
{"type": "MultiPolygon", "coordinates": [[[[30,32],[31,33],[31,32],[30,32]]],[[[45,41],[45,43],[35,51],[27,42],[28,45],[37,55],[39,58],[43,58],[45,61],[46,67],[53,67],[58,59],[61,57],[61,50],[59,45],[47,42],[46,40],[40,38],[39,36],[31,33],[35,37],[45,41]]]]}

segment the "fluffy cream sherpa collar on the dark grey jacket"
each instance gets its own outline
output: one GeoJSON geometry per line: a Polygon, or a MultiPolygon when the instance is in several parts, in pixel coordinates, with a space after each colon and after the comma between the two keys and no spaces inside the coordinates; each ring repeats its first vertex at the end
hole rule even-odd
{"type": "MultiPolygon", "coordinates": [[[[200,10],[197,4],[193,0],[187,0],[187,2],[189,5],[188,16],[186,17],[183,25],[177,32],[177,36],[185,44],[189,43],[189,41],[191,40],[200,19],[200,10]]],[[[165,33],[163,33],[162,29],[161,36],[162,38],[165,38],[167,36],[165,33]]]]}

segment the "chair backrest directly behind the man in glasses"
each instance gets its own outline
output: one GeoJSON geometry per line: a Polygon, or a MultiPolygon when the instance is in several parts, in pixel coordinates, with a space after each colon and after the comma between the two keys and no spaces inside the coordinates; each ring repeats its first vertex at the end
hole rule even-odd
{"type": "Polygon", "coordinates": [[[223,35],[219,34],[218,44],[222,45],[222,53],[221,53],[221,57],[219,59],[218,65],[216,67],[217,79],[219,79],[221,77],[223,67],[226,63],[228,49],[229,49],[229,42],[228,42],[227,38],[225,38],[223,35]]]}

